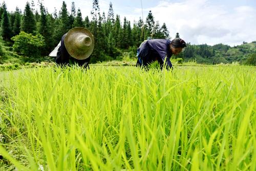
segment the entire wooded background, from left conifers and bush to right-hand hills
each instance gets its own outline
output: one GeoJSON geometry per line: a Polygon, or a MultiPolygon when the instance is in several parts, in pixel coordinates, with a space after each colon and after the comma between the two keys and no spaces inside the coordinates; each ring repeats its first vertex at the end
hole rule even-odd
{"type": "MultiPolygon", "coordinates": [[[[55,8],[53,13],[49,13],[41,1],[38,1],[38,8],[34,1],[27,2],[23,12],[18,7],[14,12],[9,12],[3,2],[0,4],[0,60],[4,53],[1,48],[4,43],[17,54],[36,61],[39,56],[47,56],[58,44],[61,36],[74,27],[88,28],[93,33],[95,48],[92,62],[119,59],[124,51],[135,56],[136,49],[148,37],[170,39],[165,23],[160,26],[152,11],[148,12],[145,22],[138,18],[131,26],[126,17],[121,20],[120,15],[114,13],[112,3],[109,4],[108,13],[105,13],[100,11],[99,0],[94,0],[91,16],[92,19],[89,16],[83,17],[74,2],[70,12],[63,1],[59,12],[55,8]]],[[[179,37],[179,33],[176,37],[179,37]]],[[[184,52],[173,57],[196,60],[199,63],[230,63],[243,62],[248,57],[255,56],[255,53],[255,41],[250,44],[244,42],[237,47],[188,43],[184,52]]],[[[253,60],[254,58],[252,57],[253,60]]]]}

